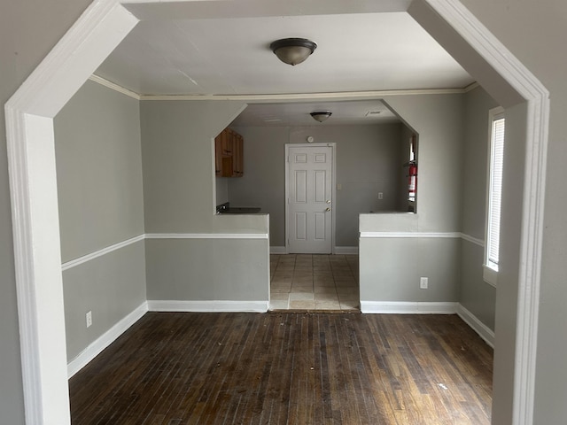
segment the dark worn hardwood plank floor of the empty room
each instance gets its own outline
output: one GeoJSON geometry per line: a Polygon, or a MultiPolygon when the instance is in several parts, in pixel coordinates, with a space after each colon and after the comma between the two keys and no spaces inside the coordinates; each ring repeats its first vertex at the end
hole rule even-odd
{"type": "Polygon", "coordinates": [[[458,316],[146,313],[69,381],[74,425],[489,424],[458,316]]]}

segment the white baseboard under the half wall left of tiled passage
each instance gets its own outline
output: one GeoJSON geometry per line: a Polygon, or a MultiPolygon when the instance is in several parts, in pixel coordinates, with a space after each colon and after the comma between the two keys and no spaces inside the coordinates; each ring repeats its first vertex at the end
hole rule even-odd
{"type": "Polygon", "coordinates": [[[266,301],[148,301],[151,312],[198,312],[198,313],[266,313],[266,301]]]}

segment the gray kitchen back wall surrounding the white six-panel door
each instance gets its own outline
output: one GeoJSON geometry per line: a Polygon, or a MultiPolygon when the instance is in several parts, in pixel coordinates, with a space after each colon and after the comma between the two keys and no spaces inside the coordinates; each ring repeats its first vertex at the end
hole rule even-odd
{"type": "Polygon", "coordinates": [[[270,214],[270,242],[285,245],[285,143],[337,143],[336,245],[358,246],[358,214],[396,209],[400,124],[376,126],[239,127],[245,139],[245,174],[229,181],[235,206],[260,206],[270,214]],[[378,192],[384,198],[378,200],[378,192]]]}

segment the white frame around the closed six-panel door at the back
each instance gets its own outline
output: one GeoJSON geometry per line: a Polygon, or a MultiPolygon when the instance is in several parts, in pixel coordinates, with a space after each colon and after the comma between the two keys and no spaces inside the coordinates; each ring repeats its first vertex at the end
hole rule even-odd
{"type": "Polygon", "coordinates": [[[290,148],[330,148],[330,185],[331,185],[331,208],[330,208],[330,253],[335,253],[335,223],[336,201],[337,201],[337,143],[285,143],[285,253],[290,253],[290,148]]]}

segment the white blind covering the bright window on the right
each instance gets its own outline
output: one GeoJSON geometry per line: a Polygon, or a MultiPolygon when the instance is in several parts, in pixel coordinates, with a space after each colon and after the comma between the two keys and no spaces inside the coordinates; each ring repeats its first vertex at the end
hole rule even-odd
{"type": "Polygon", "coordinates": [[[498,271],[500,252],[500,221],[502,198],[502,163],[504,160],[504,117],[497,115],[493,119],[491,156],[490,156],[490,191],[488,196],[488,231],[486,266],[498,271]]]}

